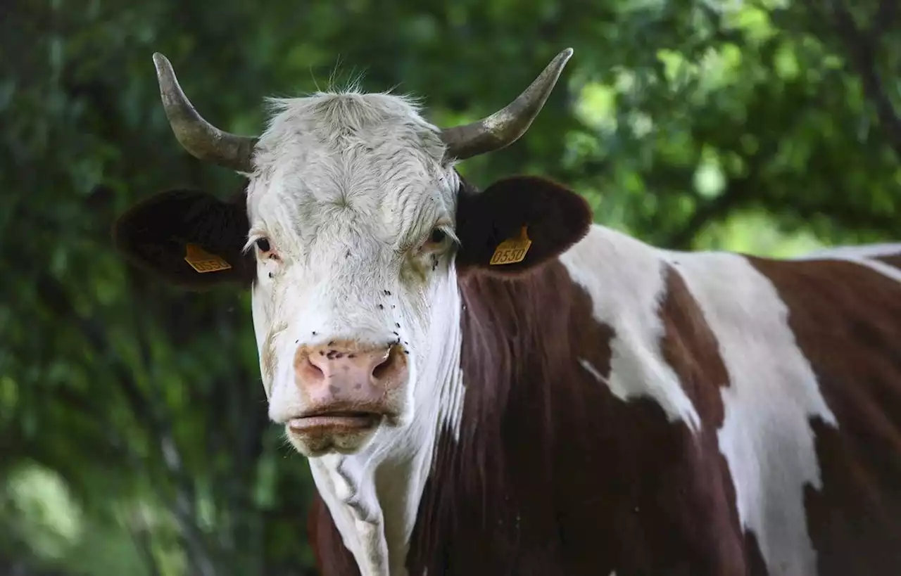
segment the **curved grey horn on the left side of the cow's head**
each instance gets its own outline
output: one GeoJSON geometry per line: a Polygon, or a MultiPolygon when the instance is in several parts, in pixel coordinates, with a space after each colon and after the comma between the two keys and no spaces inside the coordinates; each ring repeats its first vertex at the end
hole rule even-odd
{"type": "Polygon", "coordinates": [[[192,156],[201,160],[240,172],[250,172],[250,158],[257,139],[223,132],[205,121],[182,92],[168,58],[155,52],[153,64],[157,67],[163,108],[178,142],[192,156]]]}

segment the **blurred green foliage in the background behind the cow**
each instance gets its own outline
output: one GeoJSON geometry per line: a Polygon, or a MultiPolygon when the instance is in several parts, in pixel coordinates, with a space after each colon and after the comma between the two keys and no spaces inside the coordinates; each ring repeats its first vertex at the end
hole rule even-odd
{"type": "MultiPolygon", "coordinates": [[[[668,247],[788,256],[901,237],[894,4],[23,0],[0,9],[0,564],[305,574],[305,461],[268,425],[246,295],[114,254],[128,205],[239,178],[189,157],[150,55],[223,129],[362,76],[438,124],[575,56],[528,135],[462,170],[550,175],[668,247]],[[831,7],[824,7],[826,5],[831,7]]],[[[896,35],[895,35],[896,36],[896,35]]]]}

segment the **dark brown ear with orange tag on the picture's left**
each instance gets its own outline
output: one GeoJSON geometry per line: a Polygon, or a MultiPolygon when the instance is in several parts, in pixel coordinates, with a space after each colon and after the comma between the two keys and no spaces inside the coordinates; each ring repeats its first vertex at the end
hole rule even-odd
{"type": "Polygon", "coordinates": [[[130,261],[170,284],[248,287],[256,275],[255,256],[243,251],[249,229],[245,193],[223,202],[209,193],[171,190],[120,216],[113,239],[130,261]]]}

